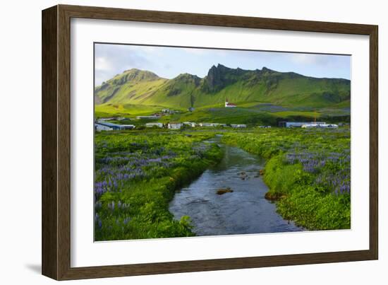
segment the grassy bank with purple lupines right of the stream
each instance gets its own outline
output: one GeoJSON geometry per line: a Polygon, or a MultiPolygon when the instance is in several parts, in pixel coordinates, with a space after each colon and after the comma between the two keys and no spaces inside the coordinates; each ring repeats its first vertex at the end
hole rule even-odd
{"type": "Polygon", "coordinates": [[[284,219],[310,230],[350,228],[350,129],[260,129],[223,141],[267,158],[266,197],[284,219]]]}

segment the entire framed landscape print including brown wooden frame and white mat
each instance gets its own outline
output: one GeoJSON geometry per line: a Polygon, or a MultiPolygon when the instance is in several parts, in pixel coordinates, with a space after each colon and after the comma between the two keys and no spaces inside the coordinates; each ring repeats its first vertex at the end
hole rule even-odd
{"type": "Polygon", "coordinates": [[[377,26],[42,12],[42,274],[377,259],[377,26]]]}

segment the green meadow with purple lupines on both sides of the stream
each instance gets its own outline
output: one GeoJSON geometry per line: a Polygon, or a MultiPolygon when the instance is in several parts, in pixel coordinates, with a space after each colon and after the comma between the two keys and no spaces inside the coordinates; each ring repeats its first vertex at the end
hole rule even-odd
{"type": "Polygon", "coordinates": [[[267,159],[266,197],[308,230],[351,225],[350,129],[244,129],[95,134],[95,240],[192,236],[173,219],[174,192],[222,158],[222,142],[267,159]]]}

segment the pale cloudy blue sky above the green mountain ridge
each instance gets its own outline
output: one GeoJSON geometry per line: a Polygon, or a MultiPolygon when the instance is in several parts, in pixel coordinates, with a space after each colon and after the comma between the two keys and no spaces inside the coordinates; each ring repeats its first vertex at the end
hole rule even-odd
{"type": "Polygon", "coordinates": [[[217,64],[241,69],[265,66],[313,77],[351,76],[351,57],[344,55],[95,44],[96,86],[132,68],[152,71],[163,78],[182,73],[204,77],[217,64]]]}

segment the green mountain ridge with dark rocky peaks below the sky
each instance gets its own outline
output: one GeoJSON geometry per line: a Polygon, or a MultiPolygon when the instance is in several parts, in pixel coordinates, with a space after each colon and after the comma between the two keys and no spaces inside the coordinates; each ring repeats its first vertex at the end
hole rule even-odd
{"type": "Polygon", "coordinates": [[[160,78],[150,71],[130,69],[95,88],[95,102],[120,105],[204,107],[233,103],[263,102],[287,106],[350,106],[351,84],[341,78],[313,78],[263,67],[231,69],[218,64],[200,78],[180,74],[160,78]]]}

